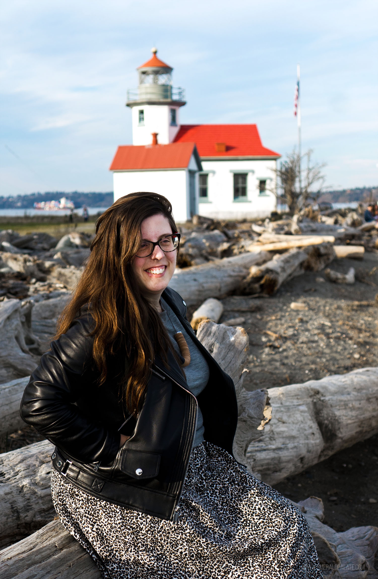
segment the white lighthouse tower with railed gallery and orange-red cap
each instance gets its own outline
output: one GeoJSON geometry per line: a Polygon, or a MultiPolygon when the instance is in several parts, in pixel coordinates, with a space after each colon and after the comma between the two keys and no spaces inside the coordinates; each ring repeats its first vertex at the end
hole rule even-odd
{"type": "Polygon", "coordinates": [[[184,90],[172,86],[173,68],[157,58],[156,48],[151,52],[152,58],[137,68],[138,89],[127,91],[126,105],[132,111],[133,145],[173,142],[180,127],[179,108],[186,104],[184,90]]]}

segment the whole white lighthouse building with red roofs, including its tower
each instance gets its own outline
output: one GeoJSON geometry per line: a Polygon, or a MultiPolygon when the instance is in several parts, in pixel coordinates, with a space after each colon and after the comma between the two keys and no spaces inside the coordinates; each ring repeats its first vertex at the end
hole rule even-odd
{"type": "Polygon", "coordinates": [[[134,191],[168,197],[177,222],[194,214],[218,219],[267,217],[276,209],[280,154],[262,145],[256,124],[180,124],[184,90],[156,56],[137,68],[139,85],[127,93],[133,145],[112,161],[114,199],[134,191]]]}

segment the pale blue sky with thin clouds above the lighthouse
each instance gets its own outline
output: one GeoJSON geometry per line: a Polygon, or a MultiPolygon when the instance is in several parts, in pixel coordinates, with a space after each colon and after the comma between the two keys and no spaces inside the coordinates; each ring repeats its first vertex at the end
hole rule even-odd
{"type": "Polygon", "coordinates": [[[131,144],[127,89],[158,56],[184,87],[181,123],[256,123],[298,143],[330,189],[378,184],[376,0],[12,0],[0,12],[0,195],[109,191],[131,144]]]}

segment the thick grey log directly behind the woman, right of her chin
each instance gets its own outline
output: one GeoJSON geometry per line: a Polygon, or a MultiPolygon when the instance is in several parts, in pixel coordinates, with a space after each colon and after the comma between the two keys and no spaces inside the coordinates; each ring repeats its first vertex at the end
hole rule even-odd
{"type": "Polygon", "coordinates": [[[186,305],[193,306],[206,298],[219,298],[236,290],[248,275],[249,267],[270,258],[267,251],[259,251],[177,269],[169,286],[182,296],[186,305]]]}

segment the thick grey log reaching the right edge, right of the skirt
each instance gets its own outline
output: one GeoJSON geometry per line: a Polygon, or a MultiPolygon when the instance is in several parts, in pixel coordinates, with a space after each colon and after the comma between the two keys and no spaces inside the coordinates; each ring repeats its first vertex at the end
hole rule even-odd
{"type": "Polygon", "coordinates": [[[271,420],[238,460],[270,485],[378,433],[378,368],[270,388],[267,396],[271,420]]]}

